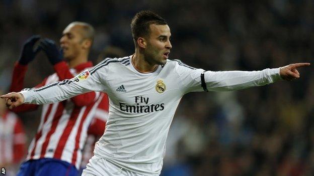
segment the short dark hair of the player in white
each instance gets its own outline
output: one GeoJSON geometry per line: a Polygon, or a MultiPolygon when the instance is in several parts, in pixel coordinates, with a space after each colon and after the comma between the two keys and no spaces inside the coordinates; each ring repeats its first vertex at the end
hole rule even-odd
{"type": "MultiPolygon", "coordinates": [[[[149,36],[149,25],[167,25],[165,19],[151,11],[140,11],[132,19],[131,31],[134,41],[149,36]]],[[[136,43],[136,42],[135,42],[136,43]]]]}

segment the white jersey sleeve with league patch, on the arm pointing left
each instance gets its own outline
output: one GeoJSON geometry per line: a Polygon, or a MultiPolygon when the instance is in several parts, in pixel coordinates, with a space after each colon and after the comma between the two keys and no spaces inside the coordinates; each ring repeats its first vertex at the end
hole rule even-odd
{"type": "Polygon", "coordinates": [[[20,93],[25,98],[24,103],[50,104],[86,92],[104,91],[106,86],[99,76],[100,71],[86,70],[72,79],[65,79],[37,89],[23,89],[20,93]]]}

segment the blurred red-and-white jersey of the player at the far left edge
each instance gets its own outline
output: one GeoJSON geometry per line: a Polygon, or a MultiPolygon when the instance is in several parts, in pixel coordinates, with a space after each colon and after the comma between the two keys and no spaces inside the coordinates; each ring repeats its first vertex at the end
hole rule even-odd
{"type": "Polygon", "coordinates": [[[13,112],[0,116],[0,165],[19,163],[25,155],[23,123],[13,112]]]}

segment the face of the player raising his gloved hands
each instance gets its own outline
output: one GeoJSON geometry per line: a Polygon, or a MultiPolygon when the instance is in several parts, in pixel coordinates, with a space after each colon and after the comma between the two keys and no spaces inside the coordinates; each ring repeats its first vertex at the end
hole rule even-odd
{"type": "Polygon", "coordinates": [[[60,39],[61,48],[63,50],[63,58],[66,60],[73,60],[83,50],[83,35],[82,27],[79,25],[68,25],[60,39]]]}

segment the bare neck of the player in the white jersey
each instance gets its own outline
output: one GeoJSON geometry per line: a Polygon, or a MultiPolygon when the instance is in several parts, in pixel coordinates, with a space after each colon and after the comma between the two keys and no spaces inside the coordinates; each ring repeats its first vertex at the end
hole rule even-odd
{"type": "Polygon", "coordinates": [[[131,61],[135,69],[141,73],[153,72],[158,67],[156,64],[148,63],[145,59],[145,56],[139,52],[135,52],[135,54],[133,54],[131,61]]]}

